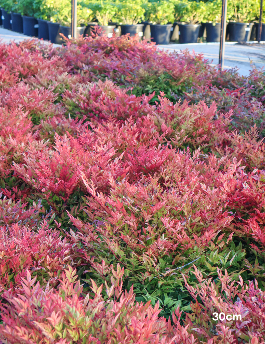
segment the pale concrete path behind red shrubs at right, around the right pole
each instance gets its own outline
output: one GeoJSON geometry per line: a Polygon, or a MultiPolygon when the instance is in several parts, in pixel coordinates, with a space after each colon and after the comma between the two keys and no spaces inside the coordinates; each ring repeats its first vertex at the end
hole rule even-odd
{"type": "MultiPolygon", "coordinates": [[[[219,63],[219,43],[194,43],[194,44],[168,44],[158,45],[159,49],[172,51],[181,51],[188,49],[190,52],[203,53],[204,57],[213,65],[219,63]]],[[[257,67],[265,66],[265,44],[257,42],[248,42],[244,45],[237,42],[226,42],[224,49],[224,67],[239,68],[241,75],[249,75],[251,69],[250,62],[257,67]]]]}

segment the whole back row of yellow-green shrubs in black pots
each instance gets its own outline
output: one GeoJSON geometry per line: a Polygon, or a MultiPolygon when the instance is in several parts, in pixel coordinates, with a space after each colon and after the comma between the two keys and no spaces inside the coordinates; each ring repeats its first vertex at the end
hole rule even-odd
{"type": "MultiPolygon", "coordinates": [[[[3,27],[29,36],[62,43],[60,35],[71,35],[70,0],[1,0],[3,27]]],[[[90,35],[93,26],[102,28],[108,37],[138,34],[140,39],[168,44],[219,42],[222,1],[161,0],[78,2],[77,33],[90,35]],[[205,32],[206,31],[206,32],[205,32]],[[206,35],[205,35],[206,33],[206,35]]],[[[260,3],[258,0],[229,0],[227,39],[250,41],[257,39],[260,3]]],[[[262,25],[265,41],[265,24],[262,25]]]]}

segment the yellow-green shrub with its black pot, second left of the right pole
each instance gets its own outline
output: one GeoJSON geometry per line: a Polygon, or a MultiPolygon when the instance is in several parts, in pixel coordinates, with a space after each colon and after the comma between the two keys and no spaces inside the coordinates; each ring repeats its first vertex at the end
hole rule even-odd
{"type": "Polygon", "coordinates": [[[176,19],[179,25],[179,43],[197,43],[201,21],[205,16],[206,3],[195,1],[180,1],[177,3],[176,19]]]}

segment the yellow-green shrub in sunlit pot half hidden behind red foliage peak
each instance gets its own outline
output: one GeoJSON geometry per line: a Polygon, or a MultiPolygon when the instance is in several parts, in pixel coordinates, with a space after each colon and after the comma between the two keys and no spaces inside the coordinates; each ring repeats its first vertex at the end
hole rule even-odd
{"type": "Polygon", "coordinates": [[[101,28],[99,35],[107,35],[108,37],[112,37],[113,30],[116,28],[116,25],[110,24],[110,22],[115,13],[118,11],[115,3],[100,0],[91,2],[87,4],[87,6],[92,10],[94,17],[97,20],[97,24],[101,28]]]}

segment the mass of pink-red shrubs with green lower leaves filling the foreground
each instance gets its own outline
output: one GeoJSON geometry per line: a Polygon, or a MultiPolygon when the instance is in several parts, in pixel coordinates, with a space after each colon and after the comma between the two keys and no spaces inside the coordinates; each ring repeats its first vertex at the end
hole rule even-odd
{"type": "Polygon", "coordinates": [[[0,43],[1,342],[263,344],[265,73],[65,40],[0,43]]]}

